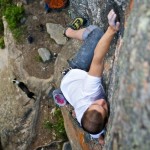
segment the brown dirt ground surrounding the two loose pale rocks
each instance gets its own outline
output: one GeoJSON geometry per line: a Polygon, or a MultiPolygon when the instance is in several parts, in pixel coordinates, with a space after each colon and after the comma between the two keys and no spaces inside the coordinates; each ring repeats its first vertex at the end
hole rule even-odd
{"type": "MultiPolygon", "coordinates": [[[[26,31],[21,44],[17,47],[22,51],[24,62],[24,69],[30,76],[37,78],[49,78],[54,71],[54,61],[43,63],[39,59],[38,49],[47,48],[51,52],[59,53],[62,45],[50,38],[46,31],[46,23],[61,24],[63,27],[70,21],[68,16],[68,8],[61,11],[52,10],[46,13],[44,10],[44,2],[41,0],[29,2],[24,5],[26,13],[26,31]],[[43,30],[41,31],[41,27],[43,30]],[[28,43],[27,37],[33,37],[33,42],[28,43]]],[[[63,34],[63,31],[62,31],[63,34]]]]}

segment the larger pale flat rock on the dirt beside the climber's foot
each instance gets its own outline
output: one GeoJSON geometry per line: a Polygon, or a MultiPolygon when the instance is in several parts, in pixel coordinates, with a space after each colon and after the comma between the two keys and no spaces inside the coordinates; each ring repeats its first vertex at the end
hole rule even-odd
{"type": "Polygon", "coordinates": [[[46,23],[47,32],[50,37],[59,45],[66,43],[66,38],[63,36],[64,27],[60,24],[46,23]]]}

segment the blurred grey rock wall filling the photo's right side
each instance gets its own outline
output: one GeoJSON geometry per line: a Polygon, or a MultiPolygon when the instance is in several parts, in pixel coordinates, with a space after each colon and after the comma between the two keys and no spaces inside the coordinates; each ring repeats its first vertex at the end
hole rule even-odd
{"type": "Polygon", "coordinates": [[[109,99],[112,124],[106,149],[148,150],[150,141],[150,4],[135,1],[117,51],[109,99]],[[138,8],[138,11],[137,9],[138,8]]]}

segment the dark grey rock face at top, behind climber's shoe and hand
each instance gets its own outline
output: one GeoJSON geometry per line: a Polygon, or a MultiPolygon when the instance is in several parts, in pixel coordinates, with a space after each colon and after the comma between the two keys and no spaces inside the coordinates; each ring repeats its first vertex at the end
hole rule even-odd
{"type": "Polygon", "coordinates": [[[96,24],[106,29],[110,9],[114,8],[123,20],[127,4],[125,0],[70,0],[69,12],[72,18],[82,16],[88,20],[87,24],[96,24]]]}

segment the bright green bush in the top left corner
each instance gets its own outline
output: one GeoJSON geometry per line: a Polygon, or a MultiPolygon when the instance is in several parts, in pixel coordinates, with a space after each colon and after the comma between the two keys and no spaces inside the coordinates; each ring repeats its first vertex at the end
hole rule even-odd
{"type": "Polygon", "coordinates": [[[0,38],[3,36],[2,16],[5,16],[8,26],[16,41],[20,41],[24,28],[20,20],[25,16],[25,10],[22,6],[16,6],[12,0],[0,0],[0,38]]]}

